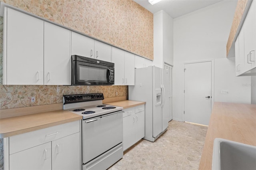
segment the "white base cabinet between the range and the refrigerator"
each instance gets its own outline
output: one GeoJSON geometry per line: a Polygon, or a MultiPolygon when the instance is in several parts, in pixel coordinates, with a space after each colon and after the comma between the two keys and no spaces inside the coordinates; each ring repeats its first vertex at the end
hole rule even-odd
{"type": "Polygon", "coordinates": [[[130,148],[145,136],[145,105],[124,109],[123,148],[130,148]]]}

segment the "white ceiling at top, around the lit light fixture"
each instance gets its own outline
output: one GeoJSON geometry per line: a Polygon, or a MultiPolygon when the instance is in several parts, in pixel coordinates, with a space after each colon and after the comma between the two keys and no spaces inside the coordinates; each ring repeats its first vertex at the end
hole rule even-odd
{"type": "Polygon", "coordinates": [[[134,0],[153,14],[164,10],[172,18],[176,18],[190,12],[210,6],[222,0],[162,0],[151,5],[148,0],[134,0]]]}

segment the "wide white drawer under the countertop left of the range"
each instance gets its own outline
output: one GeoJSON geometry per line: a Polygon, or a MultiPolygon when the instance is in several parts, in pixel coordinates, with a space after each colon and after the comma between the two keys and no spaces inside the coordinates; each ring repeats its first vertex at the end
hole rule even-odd
{"type": "Polygon", "coordinates": [[[65,123],[54,127],[18,134],[9,137],[10,154],[80,132],[79,121],[65,123]]]}

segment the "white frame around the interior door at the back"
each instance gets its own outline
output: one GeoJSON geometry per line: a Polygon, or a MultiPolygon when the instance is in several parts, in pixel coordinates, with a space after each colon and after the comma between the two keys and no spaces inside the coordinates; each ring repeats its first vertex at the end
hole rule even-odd
{"type": "MultiPolygon", "coordinates": [[[[183,70],[185,69],[185,64],[192,64],[192,63],[204,63],[204,62],[208,62],[211,61],[212,63],[212,104],[211,104],[211,110],[213,108],[213,104],[214,104],[214,59],[208,59],[208,60],[199,60],[199,61],[191,61],[191,62],[184,62],[183,63],[183,70]]],[[[182,122],[185,121],[185,115],[184,115],[184,111],[185,111],[185,93],[184,93],[184,89],[185,89],[185,71],[183,72],[183,79],[182,79],[183,83],[182,83],[182,89],[183,89],[183,95],[182,95],[182,122]]]]}

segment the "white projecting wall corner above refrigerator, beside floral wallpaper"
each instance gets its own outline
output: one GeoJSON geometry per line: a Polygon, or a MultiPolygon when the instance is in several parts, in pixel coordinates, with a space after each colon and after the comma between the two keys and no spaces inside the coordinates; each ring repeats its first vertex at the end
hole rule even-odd
{"type": "Polygon", "coordinates": [[[153,65],[163,68],[164,62],[173,65],[173,19],[161,10],[154,13],[153,65]]]}

